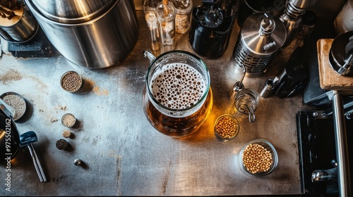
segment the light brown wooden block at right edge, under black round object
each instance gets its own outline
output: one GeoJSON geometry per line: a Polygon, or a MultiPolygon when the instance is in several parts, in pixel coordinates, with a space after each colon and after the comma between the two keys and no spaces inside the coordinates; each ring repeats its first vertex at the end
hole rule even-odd
{"type": "Polygon", "coordinates": [[[338,74],[328,61],[333,39],[319,39],[316,42],[318,49],[318,74],[320,78],[320,87],[329,90],[352,91],[353,77],[342,76],[338,74]]]}

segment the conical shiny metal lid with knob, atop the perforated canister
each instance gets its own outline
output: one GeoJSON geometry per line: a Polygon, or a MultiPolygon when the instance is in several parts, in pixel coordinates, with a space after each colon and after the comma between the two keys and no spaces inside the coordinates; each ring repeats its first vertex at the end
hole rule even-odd
{"type": "Polygon", "coordinates": [[[275,53],[285,44],[286,37],[281,20],[263,13],[249,16],[241,27],[241,40],[253,53],[275,53]]]}

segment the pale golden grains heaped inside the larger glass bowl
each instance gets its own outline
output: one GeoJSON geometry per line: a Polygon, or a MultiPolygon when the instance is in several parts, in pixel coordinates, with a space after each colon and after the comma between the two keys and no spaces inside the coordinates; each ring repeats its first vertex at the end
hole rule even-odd
{"type": "Polygon", "coordinates": [[[272,153],[260,144],[249,144],[243,151],[243,164],[252,174],[267,172],[273,164],[272,153]]]}

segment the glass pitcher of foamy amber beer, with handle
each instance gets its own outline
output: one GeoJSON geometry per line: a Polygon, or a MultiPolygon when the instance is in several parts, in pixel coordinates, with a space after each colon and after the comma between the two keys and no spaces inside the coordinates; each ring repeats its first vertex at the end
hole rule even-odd
{"type": "Polygon", "coordinates": [[[196,132],[213,106],[210,74],[205,63],[187,51],[168,51],[150,60],[143,89],[143,109],[150,124],[167,136],[196,132]]]}

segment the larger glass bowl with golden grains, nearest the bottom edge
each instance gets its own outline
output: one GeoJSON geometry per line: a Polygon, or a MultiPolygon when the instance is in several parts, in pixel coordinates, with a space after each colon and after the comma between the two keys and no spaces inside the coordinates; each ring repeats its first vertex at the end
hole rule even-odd
{"type": "Polygon", "coordinates": [[[275,147],[264,139],[249,141],[239,153],[242,171],[261,177],[273,172],[278,163],[275,147]]]}

